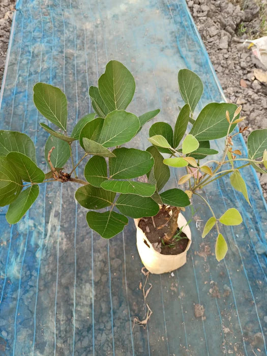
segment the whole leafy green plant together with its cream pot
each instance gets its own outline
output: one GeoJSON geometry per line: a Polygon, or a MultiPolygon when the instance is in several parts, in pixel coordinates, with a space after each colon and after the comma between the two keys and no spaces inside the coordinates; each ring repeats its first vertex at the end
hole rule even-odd
{"type": "MultiPolygon", "coordinates": [[[[103,238],[110,239],[121,232],[131,217],[136,219],[141,259],[151,272],[169,272],[184,264],[191,233],[181,210],[191,204],[193,194],[199,195],[201,187],[226,173],[231,173],[231,184],[248,200],[245,182],[239,173],[242,166],[234,164],[244,160],[245,165],[253,164],[265,172],[259,165],[264,164],[265,168],[267,165],[267,130],[256,130],[249,135],[249,159],[235,158],[241,153],[232,149],[231,137],[244,131],[240,129],[232,134],[236,124],[244,120],[240,117],[241,108],[226,103],[208,104],[194,120],[193,111],[203,90],[201,80],[193,72],[182,70],[179,84],[186,104],[179,113],[174,131],[167,123],[152,125],[149,140],[153,146],[146,151],[122,145],[130,142],[160,110],[139,117],[126,111],[135,92],[135,81],[120,62],[110,61],[98,86],[90,87],[95,112],[82,117],[70,134],[65,94],[52,85],[35,84],[34,103],[56,129],[47,123],[40,124],[49,134],[44,153],[50,169],[44,172],[38,167],[31,138],[16,131],[0,131],[0,206],[9,205],[7,221],[14,224],[23,217],[39,195],[39,184],[75,182],[81,185],[75,198],[88,209],[87,223],[103,238]],[[183,139],[189,123],[191,131],[183,139]],[[200,163],[203,158],[218,153],[210,148],[209,141],[221,137],[226,137],[223,157],[200,163]],[[72,153],[75,141],[83,151],[77,162],[72,153]],[[69,160],[72,168],[66,171],[63,167],[69,160]],[[76,169],[85,161],[84,179],[81,179],[76,169]],[[215,163],[215,168],[209,166],[211,163],[215,163]],[[222,170],[226,163],[230,168],[222,170]],[[173,188],[160,193],[170,177],[168,166],[186,167],[188,172],[178,184],[188,184],[187,189],[173,188]],[[152,239],[147,235],[155,236],[152,239]],[[153,252],[153,256],[147,251],[153,252]],[[180,260],[178,264],[169,262],[176,259],[180,260]]],[[[216,225],[216,257],[220,260],[227,246],[212,208],[211,212],[213,216],[207,221],[203,236],[216,225]]],[[[242,218],[232,208],[219,221],[234,225],[241,223],[242,218]]]]}

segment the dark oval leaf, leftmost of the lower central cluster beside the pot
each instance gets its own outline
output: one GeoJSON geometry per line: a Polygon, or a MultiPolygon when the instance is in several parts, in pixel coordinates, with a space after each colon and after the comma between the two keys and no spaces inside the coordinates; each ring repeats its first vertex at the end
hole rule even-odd
{"type": "Polygon", "coordinates": [[[116,193],[87,184],[76,190],[75,198],[86,209],[102,209],[113,203],[116,193]]]}

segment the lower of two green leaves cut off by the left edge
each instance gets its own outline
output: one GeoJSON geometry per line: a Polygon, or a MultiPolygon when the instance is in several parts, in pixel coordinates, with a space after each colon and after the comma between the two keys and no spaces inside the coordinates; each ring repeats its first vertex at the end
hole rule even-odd
{"type": "Polygon", "coordinates": [[[22,189],[16,167],[6,157],[0,156],[0,206],[12,203],[22,189]]]}

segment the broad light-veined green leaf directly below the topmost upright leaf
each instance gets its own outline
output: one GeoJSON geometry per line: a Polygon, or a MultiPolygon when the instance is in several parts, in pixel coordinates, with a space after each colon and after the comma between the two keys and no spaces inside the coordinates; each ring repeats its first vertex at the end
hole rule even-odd
{"type": "Polygon", "coordinates": [[[98,142],[105,147],[130,141],[140,128],[139,119],[131,112],[115,110],[105,118],[98,142]]]}

